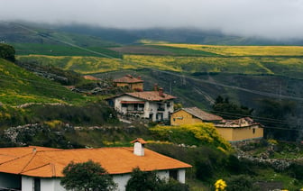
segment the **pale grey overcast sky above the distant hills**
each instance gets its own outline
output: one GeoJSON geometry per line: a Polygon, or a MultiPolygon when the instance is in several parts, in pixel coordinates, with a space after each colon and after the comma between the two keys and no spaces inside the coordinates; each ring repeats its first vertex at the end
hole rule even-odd
{"type": "Polygon", "coordinates": [[[303,0],[1,0],[0,21],[14,20],[303,39],[303,0]]]}

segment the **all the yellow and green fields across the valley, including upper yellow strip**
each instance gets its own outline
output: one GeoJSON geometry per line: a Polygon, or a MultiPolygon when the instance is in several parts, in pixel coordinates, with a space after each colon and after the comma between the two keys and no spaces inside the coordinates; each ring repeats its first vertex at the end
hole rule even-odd
{"type": "Polygon", "coordinates": [[[154,68],[185,74],[216,72],[302,78],[303,47],[163,44],[155,45],[154,48],[168,50],[175,55],[125,54],[123,60],[29,55],[19,56],[18,59],[38,59],[44,65],[54,64],[60,68],[73,69],[85,74],[120,69],[154,68]]]}

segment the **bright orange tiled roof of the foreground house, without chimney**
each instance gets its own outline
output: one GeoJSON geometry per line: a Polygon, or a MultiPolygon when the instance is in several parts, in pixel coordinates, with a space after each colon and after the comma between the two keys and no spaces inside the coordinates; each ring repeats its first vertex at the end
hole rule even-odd
{"type": "Polygon", "coordinates": [[[1,148],[0,172],[31,177],[62,177],[62,169],[70,161],[85,162],[88,159],[99,162],[109,174],[130,173],[136,167],[146,171],[191,167],[152,150],[145,149],[144,153],[144,156],[136,156],[133,148],[123,147],[75,150],[1,148]]]}

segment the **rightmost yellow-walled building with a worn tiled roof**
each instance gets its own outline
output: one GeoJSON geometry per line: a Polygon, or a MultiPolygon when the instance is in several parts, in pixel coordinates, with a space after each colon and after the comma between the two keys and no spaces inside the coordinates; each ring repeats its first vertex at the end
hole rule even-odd
{"type": "Polygon", "coordinates": [[[215,126],[226,141],[251,141],[263,138],[262,124],[255,123],[250,117],[223,120],[221,123],[216,123],[215,126]]]}

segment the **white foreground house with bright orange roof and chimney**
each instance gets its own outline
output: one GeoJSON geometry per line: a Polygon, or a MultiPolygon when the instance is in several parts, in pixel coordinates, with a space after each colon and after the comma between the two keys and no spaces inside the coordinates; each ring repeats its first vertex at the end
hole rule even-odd
{"type": "Polygon", "coordinates": [[[0,149],[0,187],[16,190],[63,191],[62,170],[70,161],[91,159],[101,164],[113,176],[117,190],[125,190],[133,168],[157,170],[161,178],[173,177],[185,183],[187,163],[144,149],[142,139],[134,147],[58,150],[43,147],[0,149]]]}

